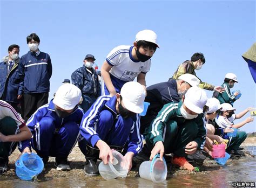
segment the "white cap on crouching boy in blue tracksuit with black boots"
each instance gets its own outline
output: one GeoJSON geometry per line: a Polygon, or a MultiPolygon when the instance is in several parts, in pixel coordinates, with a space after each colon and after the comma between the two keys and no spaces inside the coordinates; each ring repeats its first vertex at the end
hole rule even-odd
{"type": "Polygon", "coordinates": [[[144,110],[144,100],[146,91],[138,82],[126,82],[120,92],[124,107],[133,113],[142,113],[144,110]]]}

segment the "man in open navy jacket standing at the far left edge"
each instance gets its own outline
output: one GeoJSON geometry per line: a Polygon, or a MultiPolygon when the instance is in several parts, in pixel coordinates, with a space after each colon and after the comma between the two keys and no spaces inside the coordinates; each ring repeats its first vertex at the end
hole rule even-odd
{"type": "Polygon", "coordinates": [[[22,90],[19,87],[18,64],[19,46],[12,44],[8,47],[9,55],[0,62],[0,99],[8,102],[17,112],[18,103],[22,98],[22,90]]]}

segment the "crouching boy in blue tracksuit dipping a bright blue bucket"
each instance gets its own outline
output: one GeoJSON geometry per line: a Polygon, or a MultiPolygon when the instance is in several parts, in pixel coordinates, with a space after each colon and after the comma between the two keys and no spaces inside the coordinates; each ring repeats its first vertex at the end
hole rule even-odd
{"type": "Polygon", "coordinates": [[[44,165],[52,156],[56,157],[57,170],[71,169],[68,155],[78,140],[83,117],[83,110],[77,107],[81,95],[79,88],[65,83],[58,88],[55,98],[28,120],[32,148],[43,158],[44,165]]]}

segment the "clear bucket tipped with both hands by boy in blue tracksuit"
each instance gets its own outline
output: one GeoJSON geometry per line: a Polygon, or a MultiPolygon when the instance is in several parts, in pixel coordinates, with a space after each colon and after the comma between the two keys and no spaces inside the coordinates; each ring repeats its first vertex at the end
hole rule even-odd
{"type": "Polygon", "coordinates": [[[99,163],[99,173],[104,179],[114,179],[117,177],[125,178],[128,173],[127,163],[122,154],[116,150],[111,150],[114,161],[113,164],[109,163],[104,164],[103,162],[99,163]]]}

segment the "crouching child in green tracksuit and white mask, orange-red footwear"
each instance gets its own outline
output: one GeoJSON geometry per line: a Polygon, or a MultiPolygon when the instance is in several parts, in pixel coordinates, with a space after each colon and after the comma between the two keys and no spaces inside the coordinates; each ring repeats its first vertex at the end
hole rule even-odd
{"type": "Polygon", "coordinates": [[[172,163],[187,170],[194,167],[186,161],[186,155],[203,149],[206,127],[203,120],[203,108],[207,96],[203,89],[191,87],[185,99],[179,103],[168,103],[158,113],[150,127],[145,131],[146,145],[151,151],[150,160],[160,152],[173,153],[172,163]]]}

